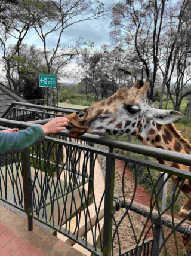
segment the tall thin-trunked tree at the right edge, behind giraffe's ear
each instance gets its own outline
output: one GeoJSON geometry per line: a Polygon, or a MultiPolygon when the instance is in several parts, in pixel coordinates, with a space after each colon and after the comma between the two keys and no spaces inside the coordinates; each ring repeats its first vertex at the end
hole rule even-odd
{"type": "Polygon", "coordinates": [[[180,109],[181,101],[184,97],[191,93],[191,90],[185,92],[187,82],[190,80],[190,2],[184,0],[181,4],[174,8],[168,9],[170,17],[170,25],[164,34],[164,47],[166,51],[159,63],[161,69],[163,83],[160,100],[160,108],[162,106],[162,97],[164,95],[165,86],[167,87],[167,95],[170,97],[175,110],[180,109]],[[171,93],[171,80],[173,75],[176,77],[174,83],[175,100],[171,93]]]}

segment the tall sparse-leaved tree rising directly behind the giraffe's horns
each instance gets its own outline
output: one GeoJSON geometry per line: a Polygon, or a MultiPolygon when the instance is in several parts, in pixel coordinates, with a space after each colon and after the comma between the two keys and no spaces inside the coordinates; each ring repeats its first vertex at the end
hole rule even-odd
{"type": "MultiPolygon", "coordinates": [[[[112,8],[111,35],[116,42],[124,44],[126,49],[142,63],[141,78],[144,72],[152,80],[150,99],[158,71],[160,42],[164,26],[164,9],[168,0],[121,1],[112,8]],[[151,65],[152,62],[152,72],[151,65]]],[[[131,59],[131,57],[129,58],[131,59]]],[[[134,57],[133,57],[134,59],[134,57]]]]}

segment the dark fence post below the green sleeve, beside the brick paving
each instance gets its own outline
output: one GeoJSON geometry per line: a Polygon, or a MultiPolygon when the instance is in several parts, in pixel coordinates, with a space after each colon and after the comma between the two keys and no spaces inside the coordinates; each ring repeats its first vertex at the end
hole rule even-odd
{"type": "Polygon", "coordinates": [[[33,218],[29,216],[32,213],[32,180],[30,169],[30,153],[29,148],[21,153],[22,156],[22,174],[23,174],[23,193],[24,193],[24,209],[28,215],[28,230],[33,230],[33,218]]]}

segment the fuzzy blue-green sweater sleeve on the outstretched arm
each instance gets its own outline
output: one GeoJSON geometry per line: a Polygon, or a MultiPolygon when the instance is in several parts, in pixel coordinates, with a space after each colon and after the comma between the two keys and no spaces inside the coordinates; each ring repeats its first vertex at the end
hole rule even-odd
{"type": "Polygon", "coordinates": [[[44,139],[44,132],[39,125],[31,126],[18,132],[0,132],[0,154],[15,153],[44,139]]]}

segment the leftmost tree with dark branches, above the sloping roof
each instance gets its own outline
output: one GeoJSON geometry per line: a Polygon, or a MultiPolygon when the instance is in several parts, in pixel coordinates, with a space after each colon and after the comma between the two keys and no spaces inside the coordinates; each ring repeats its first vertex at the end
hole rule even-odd
{"type": "Polygon", "coordinates": [[[1,2],[1,37],[0,43],[3,51],[3,59],[8,85],[13,87],[16,92],[20,90],[20,65],[13,62],[13,59],[20,57],[20,47],[24,37],[31,28],[33,17],[27,17],[21,1],[2,1],[1,2]],[[14,2],[14,4],[13,4],[14,2]],[[9,44],[12,38],[15,44],[9,44]],[[13,70],[17,69],[17,77],[14,78],[13,70]]]}

